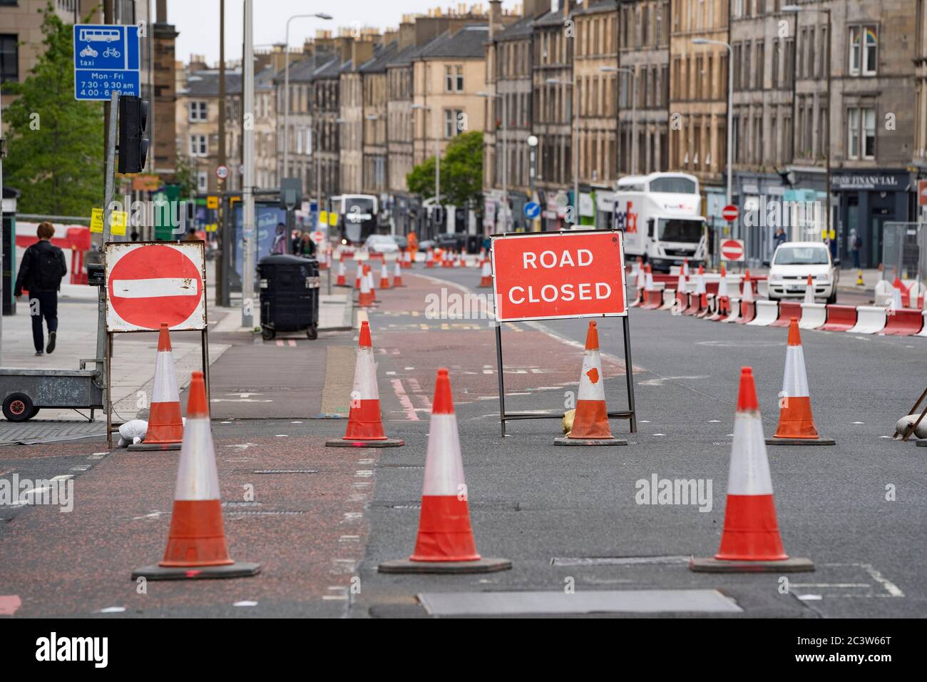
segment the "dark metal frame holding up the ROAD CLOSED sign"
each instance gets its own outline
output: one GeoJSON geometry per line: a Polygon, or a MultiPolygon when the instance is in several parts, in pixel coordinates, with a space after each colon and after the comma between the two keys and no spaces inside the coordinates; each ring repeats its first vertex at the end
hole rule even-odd
{"type": "MultiPolygon", "coordinates": [[[[624,259],[624,234],[621,230],[604,230],[604,232],[614,232],[620,235],[621,238],[621,255],[622,260],[624,259]]],[[[492,235],[490,238],[495,241],[496,238],[502,237],[552,237],[553,235],[581,235],[581,234],[602,234],[603,230],[559,230],[557,232],[510,232],[502,233],[499,235],[492,235]]],[[[496,294],[496,262],[495,262],[495,249],[493,251],[492,258],[492,291],[493,291],[493,302],[498,302],[498,294],[496,294]]],[[[623,263],[622,263],[623,265],[623,263]]],[[[625,282],[625,273],[622,271],[621,280],[625,282]]],[[[628,392],[628,409],[627,410],[613,410],[607,413],[608,418],[614,419],[628,419],[629,430],[631,433],[637,433],[637,411],[634,406],[634,366],[631,362],[631,336],[630,336],[630,325],[629,325],[629,315],[628,315],[628,299],[627,299],[627,286],[625,287],[625,312],[622,314],[612,314],[612,315],[565,315],[558,317],[541,317],[541,318],[531,318],[531,319],[517,319],[512,320],[511,323],[516,322],[528,322],[532,319],[537,319],[543,321],[545,319],[573,319],[578,317],[621,317],[622,330],[623,330],[623,339],[624,339],[624,355],[625,355],[625,379],[627,384],[628,392]]],[[[495,305],[493,307],[495,311],[495,305]]],[[[562,414],[536,414],[528,412],[505,412],[505,374],[503,371],[503,362],[502,362],[502,324],[508,322],[500,322],[498,319],[496,322],[496,367],[499,373],[499,425],[502,430],[502,437],[505,437],[505,422],[506,421],[515,421],[519,419],[562,419],[564,416],[562,414]]],[[[604,379],[604,370],[603,370],[603,379],[604,379]]],[[[604,384],[603,384],[604,386],[604,384]]]]}

